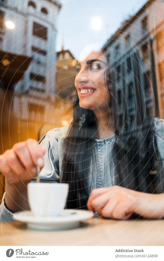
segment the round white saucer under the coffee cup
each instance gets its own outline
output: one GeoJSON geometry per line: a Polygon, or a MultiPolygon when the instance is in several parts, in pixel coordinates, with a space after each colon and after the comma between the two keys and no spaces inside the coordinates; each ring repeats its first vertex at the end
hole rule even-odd
{"type": "Polygon", "coordinates": [[[26,222],[29,228],[37,230],[76,227],[93,216],[93,212],[83,209],[64,209],[60,216],[54,217],[34,216],[30,210],[13,214],[15,220],[26,222]]]}

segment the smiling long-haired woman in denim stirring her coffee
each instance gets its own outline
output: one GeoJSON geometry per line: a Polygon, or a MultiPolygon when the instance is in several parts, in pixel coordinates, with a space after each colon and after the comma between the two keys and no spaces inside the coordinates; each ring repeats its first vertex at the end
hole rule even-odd
{"type": "Polygon", "coordinates": [[[42,182],[69,183],[66,208],[118,219],[133,212],[163,217],[164,121],[154,118],[141,55],[116,35],[79,61],[76,71],[71,124],[0,156],[6,182],[1,220],[29,209],[26,186],[35,181],[36,164],[42,182]]]}

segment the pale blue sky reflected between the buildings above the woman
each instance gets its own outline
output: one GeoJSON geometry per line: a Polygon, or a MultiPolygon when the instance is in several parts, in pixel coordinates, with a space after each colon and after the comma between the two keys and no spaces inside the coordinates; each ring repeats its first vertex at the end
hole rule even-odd
{"type": "MultiPolygon", "coordinates": [[[[147,2],[145,0],[65,0],[57,17],[56,51],[69,49],[78,60],[86,45],[102,46],[121,25],[147,2]],[[98,18],[97,29],[91,22],[98,18]],[[99,27],[99,28],[98,28],[99,27]]],[[[95,25],[95,21],[94,21],[95,25]]]]}

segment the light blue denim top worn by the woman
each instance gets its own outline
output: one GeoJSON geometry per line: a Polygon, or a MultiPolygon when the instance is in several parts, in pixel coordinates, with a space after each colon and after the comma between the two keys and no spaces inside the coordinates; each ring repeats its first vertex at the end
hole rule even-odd
{"type": "MultiPolygon", "coordinates": [[[[156,136],[158,149],[162,159],[164,159],[164,120],[154,118],[154,121],[154,133],[156,136]]],[[[68,126],[52,129],[48,131],[38,142],[40,147],[46,148],[46,153],[44,155],[45,164],[40,172],[41,182],[59,182],[60,180],[60,170],[62,167],[61,145],[67,129],[68,126]]],[[[115,135],[106,139],[95,139],[97,145],[98,165],[94,175],[95,180],[92,182],[90,191],[94,188],[110,187],[114,184],[109,173],[109,159],[114,136],[115,135]]],[[[35,179],[31,180],[31,182],[35,182],[35,179]]],[[[2,204],[0,205],[0,221],[13,220],[13,213],[10,212],[4,204],[5,193],[3,194],[2,204]]]]}

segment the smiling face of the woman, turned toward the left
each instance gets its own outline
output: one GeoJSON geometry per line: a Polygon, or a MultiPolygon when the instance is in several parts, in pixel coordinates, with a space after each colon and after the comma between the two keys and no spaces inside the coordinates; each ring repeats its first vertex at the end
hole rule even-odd
{"type": "Polygon", "coordinates": [[[81,108],[101,110],[109,106],[110,96],[105,85],[106,58],[92,52],[76,67],[75,87],[81,108]],[[85,94],[83,94],[85,93],[85,94]]]}

